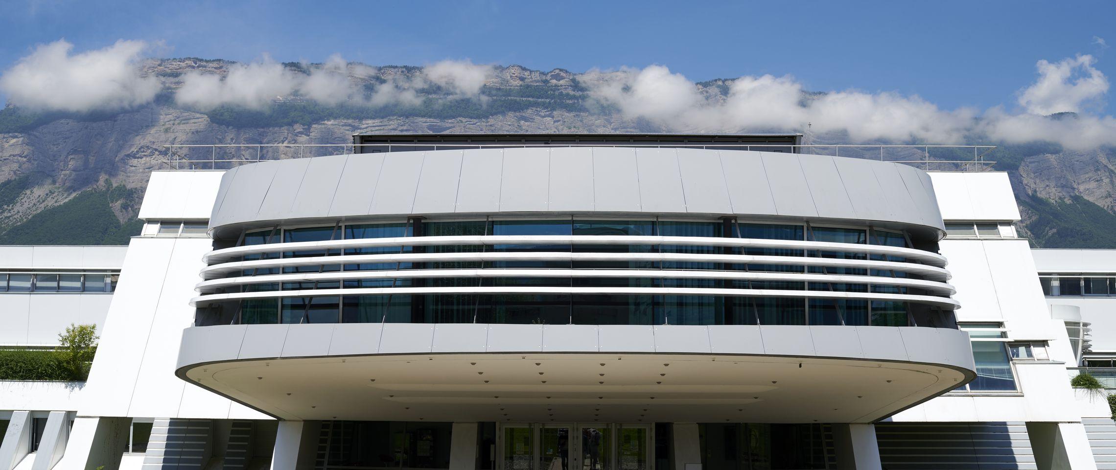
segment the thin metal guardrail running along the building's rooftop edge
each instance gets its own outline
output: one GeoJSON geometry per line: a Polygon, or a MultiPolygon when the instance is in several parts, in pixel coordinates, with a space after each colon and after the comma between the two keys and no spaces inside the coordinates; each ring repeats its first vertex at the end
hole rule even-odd
{"type": "Polygon", "coordinates": [[[163,145],[166,159],[162,162],[172,170],[227,170],[244,163],[267,160],[300,159],[308,156],[339,155],[358,150],[383,152],[414,152],[426,150],[473,150],[473,148],[523,148],[523,147],[636,147],[636,148],[705,148],[783,153],[807,153],[816,155],[850,156],[872,159],[881,162],[905,163],[924,170],[983,171],[994,161],[984,157],[995,150],[994,145],[778,145],[737,143],[555,143],[555,144],[206,144],[163,145]],[[339,152],[338,152],[339,151],[339,152]],[[931,153],[935,154],[932,155],[931,153]],[[841,155],[844,152],[844,155],[841,155]],[[970,157],[970,152],[972,155],[970,157]],[[888,160],[891,159],[891,160],[888,160]],[[932,167],[933,166],[933,167],[932,167]]]}

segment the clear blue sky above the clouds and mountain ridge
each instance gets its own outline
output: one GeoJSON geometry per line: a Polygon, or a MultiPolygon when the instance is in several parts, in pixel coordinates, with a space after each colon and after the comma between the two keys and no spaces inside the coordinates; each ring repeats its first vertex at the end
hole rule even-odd
{"type": "MultiPolygon", "coordinates": [[[[1116,2],[21,1],[0,4],[0,69],[37,44],[117,39],[161,57],[372,65],[442,59],[530,68],[645,67],[692,80],[790,74],[808,89],[916,94],[943,108],[1013,106],[1039,59],[1116,75],[1116,2]]],[[[1098,109],[1112,113],[1113,105],[1098,109]]]]}

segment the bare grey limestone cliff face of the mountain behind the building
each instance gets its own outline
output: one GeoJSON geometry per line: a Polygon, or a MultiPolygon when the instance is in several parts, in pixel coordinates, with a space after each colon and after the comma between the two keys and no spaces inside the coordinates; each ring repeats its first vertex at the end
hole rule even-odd
{"type": "MultiPolygon", "coordinates": [[[[145,69],[157,76],[165,89],[173,90],[181,86],[182,75],[187,71],[225,74],[230,64],[223,60],[164,59],[146,63],[145,69]]],[[[297,69],[299,66],[289,67],[297,69]]],[[[378,84],[392,77],[413,78],[420,73],[417,67],[350,67],[349,78],[357,83],[378,84]]],[[[715,99],[725,93],[728,83],[711,80],[699,84],[699,88],[703,95],[715,99]]],[[[183,109],[169,99],[162,99],[157,104],[109,116],[62,116],[19,132],[0,133],[0,234],[45,209],[65,203],[83,191],[103,186],[106,180],[134,189],[122,199],[112,201],[112,209],[122,222],[134,219],[147,176],[152,170],[166,167],[164,161],[169,159],[169,152],[163,146],[171,144],[346,144],[352,143],[352,135],[356,133],[668,131],[642,119],[625,118],[591,103],[559,106],[555,104],[554,95],[540,98],[529,93],[507,93],[513,88],[556,92],[561,94],[559,99],[573,97],[576,100],[585,95],[584,84],[578,81],[577,74],[564,69],[541,71],[509,66],[497,67],[487,79],[485,89],[494,90],[493,96],[502,96],[500,90],[503,89],[503,94],[508,96],[500,99],[522,105],[510,112],[490,115],[386,115],[375,118],[337,118],[326,115],[310,124],[250,126],[218,124],[211,115],[183,109]]],[[[436,95],[427,97],[440,98],[436,95]]],[[[283,99],[285,97],[277,97],[277,103],[283,99]]],[[[807,143],[844,143],[840,136],[815,135],[809,130],[804,133],[807,143]]],[[[304,156],[339,151],[340,146],[319,148],[304,156]]],[[[246,157],[254,157],[257,151],[244,148],[242,152],[246,157]]],[[[295,151],[286,148],[263,152],[267,153],[264,157],[298,156],[295,151]]],[[[1116,212],[1116,160],[1113,151],[1056,152],[1022,155],[1018,167],[1007,166],[1022,207],[1023,232],[1046,246],[1067,246],[1059,242],[1060,238],[1075,237],[1066,227],[1050,223],[1051,218],[1065,219],[1065,215],[1047,213],[1050,205],[1042,205],[1043,201],[1088,201],[1103,208],[1103,211],[1089,215],[1089,220],[1109,218],[1106,223],[1110,222],[1116,227],[1116,215],[1112,215],[1116,212]],[[1032,233],[1031,229],[1037,231],[1032,233]]],[[[990,155],[989,159],[995,160],[995,155],[990,155]]],[[[1113,234],[1110,246],[1116,247],[1116,233],[1113,234]]]]}

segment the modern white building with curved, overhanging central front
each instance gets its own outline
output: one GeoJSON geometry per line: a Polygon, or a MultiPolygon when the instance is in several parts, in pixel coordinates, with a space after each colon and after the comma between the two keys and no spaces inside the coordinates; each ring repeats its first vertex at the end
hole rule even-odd
{"type": "Polygon", "coordinates": [[[0,470],[1097,468],[1007,175],[796,142],[154,172],[89,380],[8,385],[0,470]]]}

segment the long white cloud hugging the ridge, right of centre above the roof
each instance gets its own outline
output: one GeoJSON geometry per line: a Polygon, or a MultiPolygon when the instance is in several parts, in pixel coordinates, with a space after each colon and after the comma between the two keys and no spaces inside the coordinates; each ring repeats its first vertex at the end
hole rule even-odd
{"type": "Polygon", "coordinates": [[[598,70],[586,74],[589,93],[628,117],[691,132],[845,132],[854,141],[911,138],[961,142],[975,112],[946,112],[918,98],[893,93],[833,92],[807,98],[792,77],[744,76],[723,99],[710,99],[696,85],[666,67],[598,70]]]}

